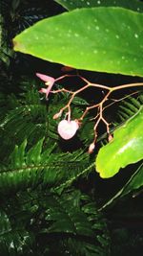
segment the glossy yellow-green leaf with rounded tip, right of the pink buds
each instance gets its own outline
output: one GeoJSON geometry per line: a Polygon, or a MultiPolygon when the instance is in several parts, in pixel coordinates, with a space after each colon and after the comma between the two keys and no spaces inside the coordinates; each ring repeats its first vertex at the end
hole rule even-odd
{"type": "Polygon", "coordinates": [[[113,140],[97,154],[96,170],[101,177],[117,174],[120,168],[143,158],[143,107],[128,122],[117,128],[113,140]]]}

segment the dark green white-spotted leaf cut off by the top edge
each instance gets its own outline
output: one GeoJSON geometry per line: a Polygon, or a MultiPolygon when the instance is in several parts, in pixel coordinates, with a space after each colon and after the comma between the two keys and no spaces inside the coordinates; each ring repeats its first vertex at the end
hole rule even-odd
{"type": "Polygon", "coordinates": [[[76,8],[91,8],[101,6],[124,7],[137,12],[143,12],[143,4],[137,0],[54,0],[69,11],[76,8]]]}

